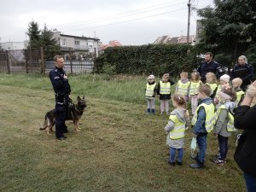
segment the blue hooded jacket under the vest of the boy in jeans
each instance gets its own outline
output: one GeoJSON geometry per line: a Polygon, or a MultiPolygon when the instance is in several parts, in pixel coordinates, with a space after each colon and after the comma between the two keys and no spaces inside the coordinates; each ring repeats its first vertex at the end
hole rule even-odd
{"type": "MultiPolygon", "coordinates": [[[[198,105],[200,105],[201,103],[210,104],[211,102],[212,102],[212,99],[210,97],[207,97],[205,99],[200,100],[198,102],[198,105]]],[[[195,135],[198,135],[199,133],[207,134],[205,122],[206,122],[206,111],[205,111],[205,108],[201,107],[197,111],[197,120],[192,130],[195,135]]]]}

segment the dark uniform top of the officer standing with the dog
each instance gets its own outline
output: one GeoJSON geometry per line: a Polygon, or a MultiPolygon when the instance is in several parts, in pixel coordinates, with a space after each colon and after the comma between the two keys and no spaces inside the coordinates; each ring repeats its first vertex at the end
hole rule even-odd
{"type": "Polygon", "coordinates": [[[70,85],[68,79],[64,79],[65,71],[62,68],[55,67],[49,72],[49,79],[56,94],[70,94],[70,85]]]}

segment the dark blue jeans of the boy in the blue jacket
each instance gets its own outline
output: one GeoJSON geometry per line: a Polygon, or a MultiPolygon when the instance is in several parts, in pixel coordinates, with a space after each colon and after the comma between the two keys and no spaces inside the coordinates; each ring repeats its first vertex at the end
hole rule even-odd
{"type": "Polygon", "coordinates": [[[196,137],[196,143],[199,148],[199,152],[197,154],[197,163],[204,165],[207,154],[207,133],[199,133],[196,137]]]}

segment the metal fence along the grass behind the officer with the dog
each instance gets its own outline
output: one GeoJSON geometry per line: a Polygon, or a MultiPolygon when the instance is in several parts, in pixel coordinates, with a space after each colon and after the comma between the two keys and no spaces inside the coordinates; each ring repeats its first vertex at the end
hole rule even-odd
{"type": "MultiPolygon", "coordinates": [[[[85,60],[73,59],[66,60],[64,64],[67,73],[91,73],[94,60],[92,58],[86,58],[85,60]]],[[[49,73],[54,67],[54,61],[44,61],[44,50],[42,48],[0,52],[0,73],[49,73]]]]}

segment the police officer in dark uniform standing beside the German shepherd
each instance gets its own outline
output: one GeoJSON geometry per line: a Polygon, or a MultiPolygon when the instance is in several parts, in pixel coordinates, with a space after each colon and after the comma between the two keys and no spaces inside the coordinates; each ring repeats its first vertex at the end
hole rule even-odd
{"type": "Polygon", "coordinates": [[[67,75],[63,70],[63,57],[61,55],[55,55],[54,61],[55,68],[49,72],[49,79],[55,90],[55,136],[58,140],[64,140],[67,138],[63,133],[67,133],[65,119],[67,117],[69,94],[71,90],[67,75]]]}

